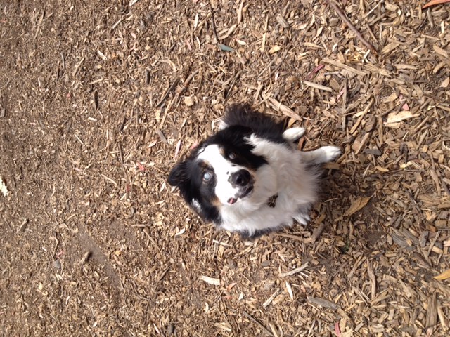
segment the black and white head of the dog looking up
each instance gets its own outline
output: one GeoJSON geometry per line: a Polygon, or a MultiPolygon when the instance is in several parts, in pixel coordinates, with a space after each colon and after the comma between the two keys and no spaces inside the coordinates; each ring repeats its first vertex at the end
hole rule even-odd
{"type": "Polygon", "coordinates": [[[193,209],[206,217],[212,209],[248,199],[255,190],[257,169],[266,160],[252,153],[250,128],[230,126],[219,131],[191,153],[169,174],[193,209]]]}

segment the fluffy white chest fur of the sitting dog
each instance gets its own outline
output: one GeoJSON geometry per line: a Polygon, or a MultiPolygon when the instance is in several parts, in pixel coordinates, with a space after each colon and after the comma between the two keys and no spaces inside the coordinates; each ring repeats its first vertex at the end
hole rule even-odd
{"type": "Polygon", "coordinates": [[[258,169],[255,190],[248,199],[221,208],[221,227],[252,236],[257,231],[291,226],[294,219],[306,223],[307,212],[316,201],[318,173],[307,168],[305,152],[256,136],[250,136],[248,142],[268,164],[258,169]],[[271,207],[267,201],[275,194],[278,199],[271,207]]]}

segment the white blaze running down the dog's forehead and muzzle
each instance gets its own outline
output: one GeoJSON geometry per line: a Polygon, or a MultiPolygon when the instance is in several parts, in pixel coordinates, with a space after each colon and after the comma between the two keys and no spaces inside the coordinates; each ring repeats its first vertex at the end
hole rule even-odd
{"type": "Polygon", "coordinates": [[[206,161],[214,170],[217,181],[214,192],[221,203],[227,204],[230,198],[236,197],[239,189],[231,185],[229,176],[231,173],[242,169],[242,167],[234,165],[226,159],[219,145],[208,145],[203,152],[198,154],[198,159],[206,161]]]}

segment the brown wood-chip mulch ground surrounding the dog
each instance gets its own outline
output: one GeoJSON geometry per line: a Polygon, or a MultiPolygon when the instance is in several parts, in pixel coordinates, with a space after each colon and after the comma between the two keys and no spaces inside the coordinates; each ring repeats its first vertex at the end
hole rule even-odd
{"type": "Polygon", "coordinates": [[[450,7],[423,4],[340,3],[375,55],[326,1],[3,1],[1,335],[448,336],[450,7]],[[167,185],[241,101],[342,147],[307,227],[243,242],[167,185]]]}

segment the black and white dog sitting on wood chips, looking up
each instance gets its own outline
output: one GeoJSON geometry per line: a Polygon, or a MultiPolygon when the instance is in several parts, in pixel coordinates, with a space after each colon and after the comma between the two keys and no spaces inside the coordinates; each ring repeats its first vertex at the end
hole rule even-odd
{"type": "Polygon", "coordinates": [[[249,105],[231,105],[221,130],[200,143],[169,174],[169,184],[203,220],[255,238],[309,221],[317,199],[317,164],[336,159],[340,149],[296,150],[304,128],[284,130],[249,105]]]}

